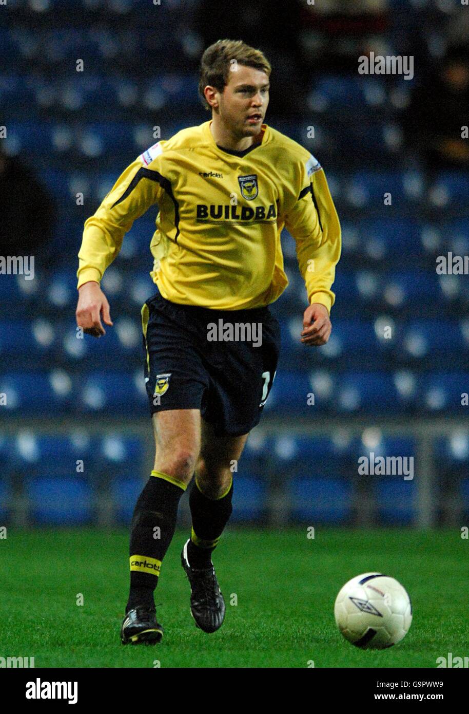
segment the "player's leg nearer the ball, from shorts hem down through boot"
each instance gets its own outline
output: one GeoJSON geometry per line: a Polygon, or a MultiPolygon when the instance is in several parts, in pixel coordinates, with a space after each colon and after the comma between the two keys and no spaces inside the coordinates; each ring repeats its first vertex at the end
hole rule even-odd
{"type": "Polygon", "coordinates": [[[190,582],[190,611],[198,627],[215,632],[225,619],[225,600],[212,563],[212,552],[232,513],[232,466],[248,434],[216,436],[202,419],[202,444],[190,492],[191,537],[181,553],[190,582]]]}

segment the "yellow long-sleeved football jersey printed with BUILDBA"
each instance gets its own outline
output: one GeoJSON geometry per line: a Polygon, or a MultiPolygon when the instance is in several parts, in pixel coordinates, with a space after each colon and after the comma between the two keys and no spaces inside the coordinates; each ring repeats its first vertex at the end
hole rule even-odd
{"type": "Polygon", "coordinates": [[[274,302],[288,285],[285,226],[309,303],[330,311],[341,230],[318,161],[267,124],[248,149],[222,149],[210,123],[158,141],[119,176],[85,222],[78,287],[100,281],[135,218],[157,203],[150,275],[167,300],[218,310],[274,302]]]}

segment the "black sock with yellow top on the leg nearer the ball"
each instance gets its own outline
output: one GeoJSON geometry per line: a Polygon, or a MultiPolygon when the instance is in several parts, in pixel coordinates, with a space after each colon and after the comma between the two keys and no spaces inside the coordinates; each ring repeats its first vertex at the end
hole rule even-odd
{"type": "Polygon", "coordinates": [[[233,479],[230,488],[220,498],[212,500],[200,491],[195,478],[189,496],[192,531],[187,543],[187,559],[191,568],[210,565],[212,553],[232,513],[232,495],[233,479]]]}

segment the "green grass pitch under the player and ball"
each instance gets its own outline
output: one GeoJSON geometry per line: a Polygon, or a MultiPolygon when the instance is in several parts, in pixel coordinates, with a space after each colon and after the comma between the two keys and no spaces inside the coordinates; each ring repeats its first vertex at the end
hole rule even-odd
{"type": "Polygon", "coordinates": [[[460,531],[304,528],[226,531],[214,556],[225,623],[195,628],[177,531],[155,592],[163,643],[119,640],[128,594],[127,531],[9,528],[0,540],[0,656],[36,667],[426,667],[468,655],[469,541],[460,531]],[[359,650],[336,630],[346,580],[381,570],[411,595],[413,623],[388,650],[359,650]],[[83,605],[77,605],[78,593],[83,605]],[[237,605],[230,604],[237,596],[237,605]]]}

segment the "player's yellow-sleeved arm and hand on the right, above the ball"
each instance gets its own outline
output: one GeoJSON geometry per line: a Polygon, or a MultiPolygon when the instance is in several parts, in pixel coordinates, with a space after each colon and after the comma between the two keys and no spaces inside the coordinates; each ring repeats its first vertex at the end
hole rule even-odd
{"type": "Polygon", "coordinates": [[[313,156],[299,165],[297,201],[285,216],[294,237],[301,276],[309,306],[303,315],[301,342],[324,345],[331,334],[331,291],[341,253],[341,228],[323,169],[313,156]]]}

